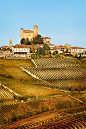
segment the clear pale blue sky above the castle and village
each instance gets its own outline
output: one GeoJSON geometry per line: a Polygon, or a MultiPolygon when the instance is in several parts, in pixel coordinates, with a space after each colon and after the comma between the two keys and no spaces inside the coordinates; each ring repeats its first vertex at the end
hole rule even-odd
{"type": "Polygon", "coordinates": [[[86,48],[86,0],[0,0],[0,47],[34,25],[51,44],[86,48]]]}

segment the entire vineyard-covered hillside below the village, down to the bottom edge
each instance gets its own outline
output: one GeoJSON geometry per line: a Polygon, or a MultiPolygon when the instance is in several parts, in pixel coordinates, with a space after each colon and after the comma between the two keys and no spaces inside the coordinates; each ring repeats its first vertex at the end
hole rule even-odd
{"type": "Polygon", "coordinates": [[[85,129],[86,60],[1,59],[0,103],[1,129],[85,129]]]}

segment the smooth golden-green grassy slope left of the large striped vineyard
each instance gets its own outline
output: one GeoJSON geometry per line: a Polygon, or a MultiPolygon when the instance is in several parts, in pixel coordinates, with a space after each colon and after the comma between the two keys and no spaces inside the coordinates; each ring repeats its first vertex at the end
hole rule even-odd
{"type": "Polygon", "coordinates": [[[57,94],[57,91],[33,86],[31,82],[39,80],[31,77],[17,66],[34,66],[30,60],[0,60],[0,82],[21,94],[22,96],[47,96],[57,94]]]}

